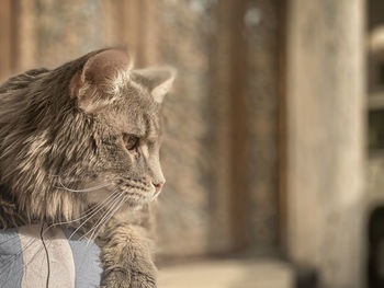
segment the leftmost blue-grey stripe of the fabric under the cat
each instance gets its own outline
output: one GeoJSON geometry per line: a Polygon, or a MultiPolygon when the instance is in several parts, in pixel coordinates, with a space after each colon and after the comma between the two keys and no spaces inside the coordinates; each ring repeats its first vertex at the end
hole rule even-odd
{"type": "Polygon", "coordinates": [[[21,288],[23,253],[16,229],[0,232],[0,287],[21,288]]]}

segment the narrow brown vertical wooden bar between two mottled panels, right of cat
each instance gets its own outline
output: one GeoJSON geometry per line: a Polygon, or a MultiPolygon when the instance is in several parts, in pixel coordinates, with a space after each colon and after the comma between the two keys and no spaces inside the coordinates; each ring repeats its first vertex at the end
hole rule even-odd
{"type": "MultiPolygon", "coordinates": [[[[225,2],[225,1],[224,1],[225,2]]],[[[247,115],[248,107],[245,100],[246,71],[246,42],[244,34],[244,15],[246,0],[228,0],[227,13],[231,28],[230,36],[230,160],[231,169],[231,234],[234,249],[239,250],[246,245],[245,233],[247,231],[247,115]]]]}

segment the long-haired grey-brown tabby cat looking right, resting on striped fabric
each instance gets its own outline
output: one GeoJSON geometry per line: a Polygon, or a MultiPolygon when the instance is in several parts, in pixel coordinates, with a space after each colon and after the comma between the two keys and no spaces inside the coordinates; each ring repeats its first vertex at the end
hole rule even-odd
{"type": "Polygon", "coordinates": [[[0,229],[66,224],[101,249],[101,287],[156,287],[136,216],[160,193],[161,103],[174,69],[89,53],[0,87],[0,229]]]}

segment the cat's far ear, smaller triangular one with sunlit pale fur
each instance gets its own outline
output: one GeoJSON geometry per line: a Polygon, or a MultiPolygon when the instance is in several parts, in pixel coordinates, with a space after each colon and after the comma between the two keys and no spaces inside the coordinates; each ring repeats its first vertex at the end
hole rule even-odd
{"type": "Polygon", "coordinates": [[[161,103],[171,89],[177,72],[172,67],[161,67],[133,70],[133,73],[140,77],[144,84],[149,88],[154,100],[161,103]]]}

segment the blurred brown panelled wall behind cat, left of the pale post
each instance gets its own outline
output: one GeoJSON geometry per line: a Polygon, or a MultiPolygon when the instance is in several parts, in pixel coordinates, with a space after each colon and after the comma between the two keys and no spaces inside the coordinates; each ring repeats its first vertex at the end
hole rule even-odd
{"type": "Polygon", "coordinates": [[[160,254],[276,254],[279,2],[0,0],[0,78],[116,45],[176,66],[160,254]]]}

